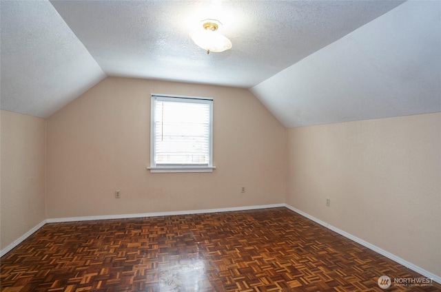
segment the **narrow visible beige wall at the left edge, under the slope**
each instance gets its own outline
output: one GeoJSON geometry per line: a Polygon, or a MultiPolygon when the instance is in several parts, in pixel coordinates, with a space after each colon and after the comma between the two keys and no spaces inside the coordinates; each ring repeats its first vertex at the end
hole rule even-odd
{"type": "Polygon", "coordinates": [[[1,111],[0,250],[45,214],[45,120],[1,111]]]}

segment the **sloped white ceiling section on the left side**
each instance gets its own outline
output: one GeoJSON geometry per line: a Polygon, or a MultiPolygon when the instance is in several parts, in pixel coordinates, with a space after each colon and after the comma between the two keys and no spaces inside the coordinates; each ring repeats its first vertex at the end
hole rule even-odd
{"type": "Polygon", "coordinates": [[[1,1],[1,109],[48,117],[105,74],[49,1],[1,1]]]}

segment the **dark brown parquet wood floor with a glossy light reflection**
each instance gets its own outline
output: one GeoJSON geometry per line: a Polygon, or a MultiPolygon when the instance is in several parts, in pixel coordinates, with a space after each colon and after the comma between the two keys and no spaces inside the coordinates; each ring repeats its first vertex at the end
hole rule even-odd
{"type": "Polygon", "coordinates": [[[286,208],[50,223],[1,258],[11,291],[380,289],[421,275],[286,208]]]}

